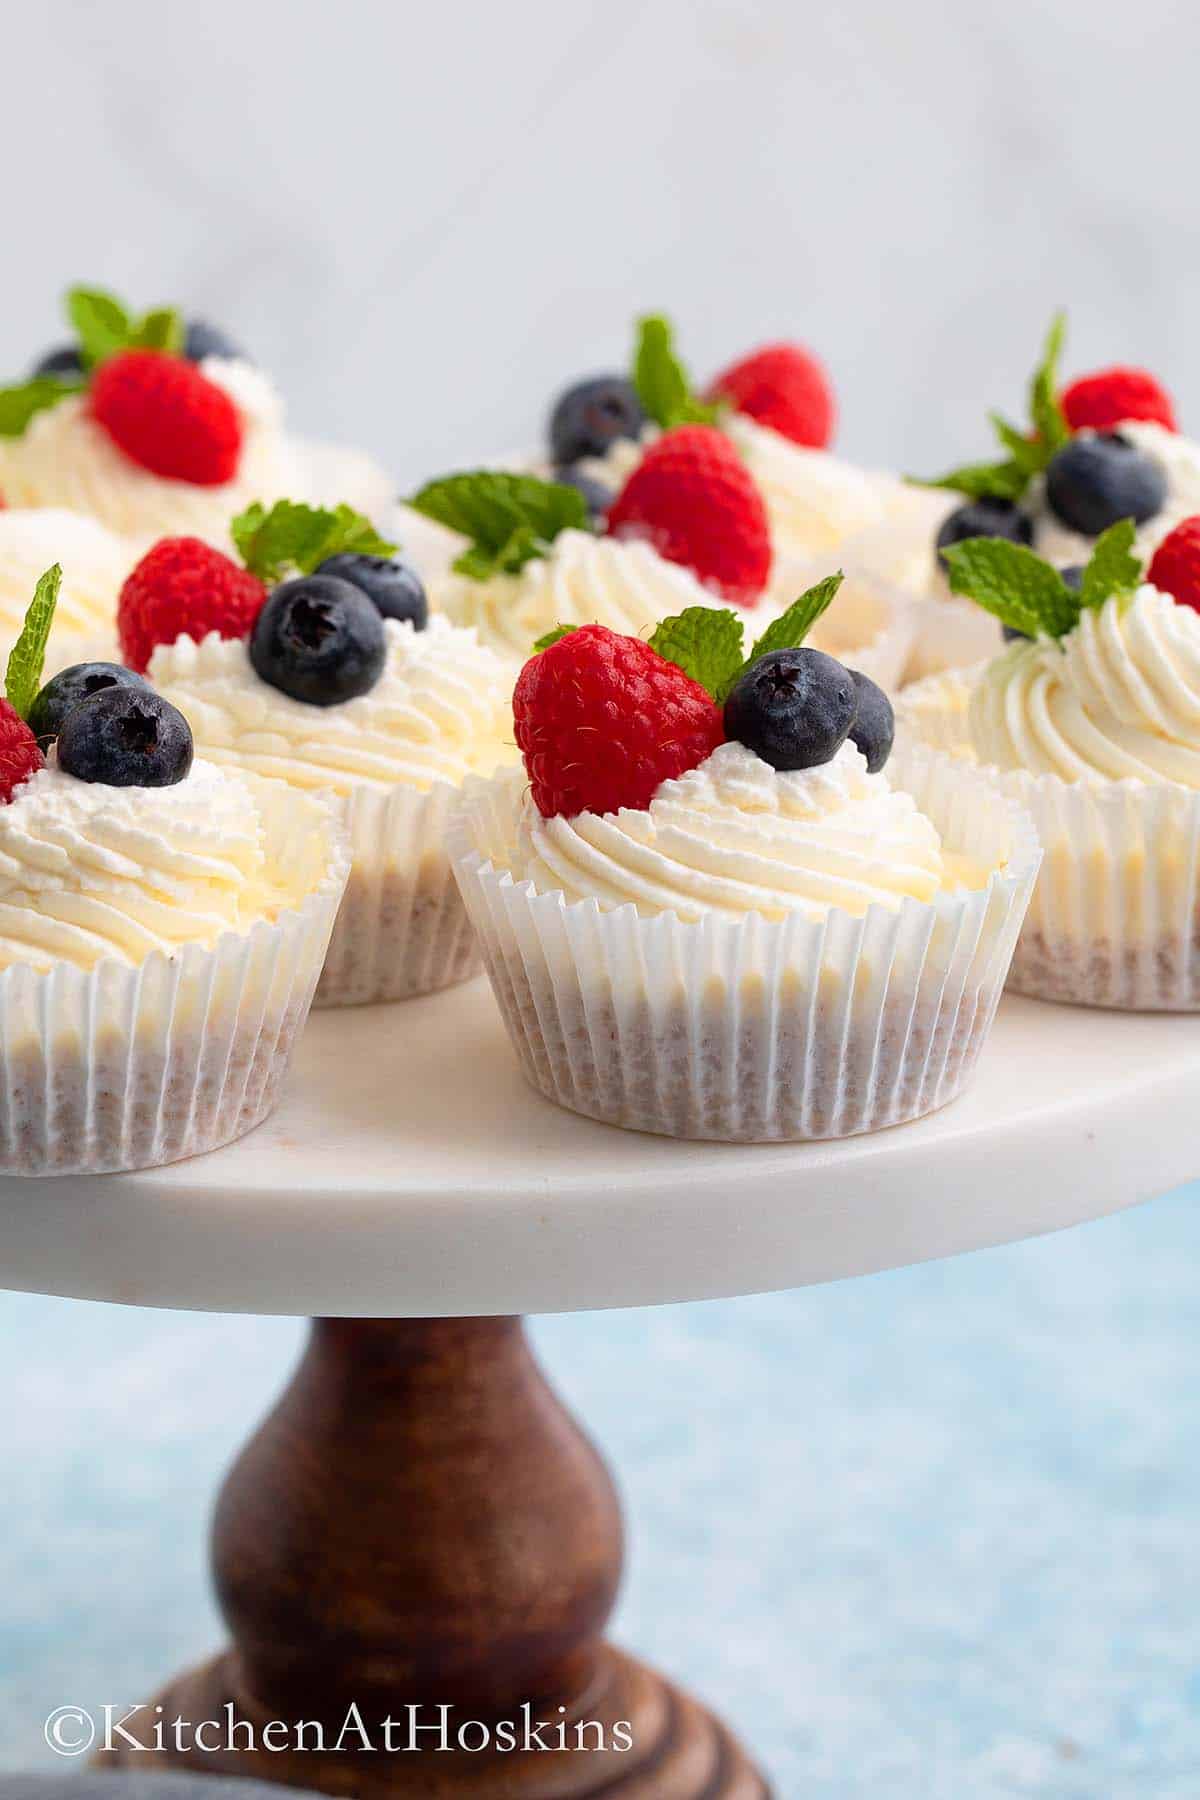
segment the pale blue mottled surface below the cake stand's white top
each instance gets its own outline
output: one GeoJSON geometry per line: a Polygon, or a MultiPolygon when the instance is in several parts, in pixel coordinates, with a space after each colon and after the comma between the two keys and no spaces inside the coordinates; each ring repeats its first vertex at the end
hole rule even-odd
{"type": "MultiPolygon", "coordinates": [[[[1200,1793],[1198,1199],[538,1325],[624,1483],[621,1636],[786,1800],[1200,1793]]],[[[297,1341],[0,1296],[0,1766],[219,1640],[210,1492],[297,1341]]]]}

